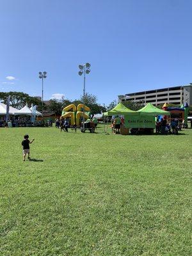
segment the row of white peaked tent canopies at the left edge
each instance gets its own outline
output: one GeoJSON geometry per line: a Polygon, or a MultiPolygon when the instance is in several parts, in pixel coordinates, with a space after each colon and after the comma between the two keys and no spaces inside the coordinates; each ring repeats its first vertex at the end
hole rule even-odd
{"type": "MultiPolygon", "coordinates": [[[[33,107],[31,107],[32,109],[33,107]]],[[[16,109],[10,106],[9,115],[32,115],[32,110],[28,107],[28,104],[22,109],[16,109]]],[[[0,115],[6,115],[6,104],[0,102],[0,115]]],[[[42,116],[42,113],[36,110],[36,116],[42,116]]]]}

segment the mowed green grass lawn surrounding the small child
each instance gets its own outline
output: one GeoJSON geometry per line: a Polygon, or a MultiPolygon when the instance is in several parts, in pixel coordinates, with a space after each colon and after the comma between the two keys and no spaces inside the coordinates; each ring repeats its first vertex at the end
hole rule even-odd
{"type": "Polygon", "coordinates": [[[192,129],[102,131],[0,129],[1,256],[191,255],[192,129]]]}

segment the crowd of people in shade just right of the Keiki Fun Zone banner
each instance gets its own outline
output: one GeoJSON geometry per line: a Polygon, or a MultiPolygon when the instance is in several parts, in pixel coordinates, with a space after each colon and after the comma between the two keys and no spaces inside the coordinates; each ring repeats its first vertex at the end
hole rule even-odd
{"type": "Polygon", "coordinates": [[[185,127],[184,120],[180,122],[178,118],[172,118],[167,120],[161,118],[156,121],[156,133],[157,134],[178,134],[178,131],[181,131],[185,127]]]}

